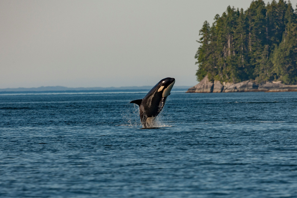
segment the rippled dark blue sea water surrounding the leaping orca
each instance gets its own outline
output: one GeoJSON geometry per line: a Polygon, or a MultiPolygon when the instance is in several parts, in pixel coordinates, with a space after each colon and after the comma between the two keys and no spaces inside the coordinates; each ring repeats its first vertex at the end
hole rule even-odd
{"type": "Polygon", "coordinates": [[[297,92],[0,94],[0,197],[296,197],[297,92]]]}

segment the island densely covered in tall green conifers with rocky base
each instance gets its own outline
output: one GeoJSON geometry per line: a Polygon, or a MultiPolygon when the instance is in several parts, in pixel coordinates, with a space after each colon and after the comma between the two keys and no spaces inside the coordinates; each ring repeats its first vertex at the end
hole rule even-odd
{"type": "Polygon", "coordinates": [[[250,84],[245,91],[267,83],[297,90],[297,13],[290,1],[257,0],[245,11],[228,6],[214,20],[199,31],[195,55],[197,80],[210,89],[195,91],[198,84],[188,92],[212,92],[216,84],[224,91],[243,82],[250,84]]]}

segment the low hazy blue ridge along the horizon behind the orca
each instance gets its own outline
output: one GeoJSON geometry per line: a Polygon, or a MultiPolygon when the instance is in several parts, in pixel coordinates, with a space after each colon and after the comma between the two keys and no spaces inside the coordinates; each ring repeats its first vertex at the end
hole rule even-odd
{"type": "MultiPolygon", "coordinates": [[[[32,87],[32,88],[5,88],[0,89],[0,92],[63,92],[63,91],[104,91],[104,90],[150,90],[153,86],[130,86],[130,87],[63,87],[63,86],[42,86],[42,87],[32,87]]],[[[188,89],[190,86],[176,86],[173,87],[174,90],[188,89]]]]}

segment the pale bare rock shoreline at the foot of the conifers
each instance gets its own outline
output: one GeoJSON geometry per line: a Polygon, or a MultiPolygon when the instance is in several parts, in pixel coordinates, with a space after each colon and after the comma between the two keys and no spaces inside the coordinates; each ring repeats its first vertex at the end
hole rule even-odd
{"type": "Polygon", "coordinates": [[[256,84],[253,81],[243,81],[239,83],[225,83],[220,81],[209,81],[204,77],[194,87],[188,89],[186,93],[220,93],[220,92],[297,92],[297,85],[285,85],[278,82],[266,82],[256,84]]]}

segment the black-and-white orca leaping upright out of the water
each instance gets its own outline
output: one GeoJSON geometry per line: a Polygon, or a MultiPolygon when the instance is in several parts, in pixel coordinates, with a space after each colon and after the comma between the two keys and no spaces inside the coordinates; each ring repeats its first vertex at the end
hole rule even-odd
{"type": "Polygon", "coordinates": [[[142,127],[154,127],[155,118],[163,109],[174,83],[174,78],[164,78],[158,82],[144,98],[130,102],[139,105],[139,115],[142,127]]]}

